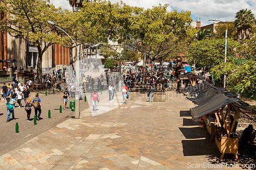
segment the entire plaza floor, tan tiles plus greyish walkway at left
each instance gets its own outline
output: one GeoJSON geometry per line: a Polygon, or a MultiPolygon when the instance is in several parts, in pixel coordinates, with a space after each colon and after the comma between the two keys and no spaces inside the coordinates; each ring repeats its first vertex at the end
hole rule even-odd
{"type": "MultiPolygon", "coordinates": [[[[20,118],[5,123],[2,101],[0,169],[188,169],[218,162],[219,150],[200,123],[191,120],[194,104],[183,94],[167,91],[165,102],[148,103],[146,93],[130,92],[127,104],[121,92],[114,102],[108,95],[99,92],[96,112],[90,100],[80,101],[80,118],[75,119],[70,109],[59,113],[60,93],[41,94],[44,119],[37,125],[25,121],[24,108],[15,108],[20,118]]],[[[224,160],[237,163],[231,154],[224,160]]]]}

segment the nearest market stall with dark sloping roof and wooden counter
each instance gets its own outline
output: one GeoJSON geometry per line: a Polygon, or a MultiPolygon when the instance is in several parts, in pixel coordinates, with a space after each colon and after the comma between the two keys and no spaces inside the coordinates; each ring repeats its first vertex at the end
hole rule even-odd
{"type": "Polygon", "coordinates": [[[238,137],[233,131],[236,120],[240,117],[240,113],[255,113],[255,111],[238,98],[229,98],[214,88],[190,100],[199,105],[190,109],[191,116],[193,119],[201,117],[206,123],[211,140],[215,138],[215,147],[217,146],[222,153],[220,160],[225,153],[234,154],[238,160],[238,137]],[[224,108],[226,108],[225,112],[224,108]],[[231,110],[235,111],[231,112],[231,110]]]}

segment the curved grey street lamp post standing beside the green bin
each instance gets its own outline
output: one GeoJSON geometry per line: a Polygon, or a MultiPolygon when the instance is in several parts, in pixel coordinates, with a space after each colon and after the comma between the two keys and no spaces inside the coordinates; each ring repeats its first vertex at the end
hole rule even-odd
{"type": "MultiPolygon", "coordinates": [[[[64,30],[62,30],[61,28],[57,27],[55,25],[55,22],[52,22],[52,21],[47,21],[50,25],[58,28],[59,30],[65,32],[64,30]]],[[[66,33],[66,32],[65,32],[66,33]]],[[[66,33],[68,36],[69,34],[66,33]]],[[[69,36],[69,38],[73,41],[73,43],[75,44],[76,46],[76,43],[75,41],[69,36]]],[[[78,50],[78,47],[76,46],[76,50],[78,52],[78,56],[75,58],[75,71],[76,71],[76,89],[75,89],[75,118],[79,118],[80,117],[80,112],[79,112],[79,61],[76,61],[76,59],[80,56],[80,52],[78,50]]]]}

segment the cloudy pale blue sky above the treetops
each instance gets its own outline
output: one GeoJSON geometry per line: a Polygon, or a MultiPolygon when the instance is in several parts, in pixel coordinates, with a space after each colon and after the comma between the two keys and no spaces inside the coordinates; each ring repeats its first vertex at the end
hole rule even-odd
{"type": "MultiPolygon", "coordinates": [[[[112,3],[120,2],[110,0],[112,3]]],[[[168,11],[177,10],[178,12],[191,11],[191,18],[201,21],[201,27],[213,23],[209,19],[221,21],[233,21],[236,13],[241,9],[251,10],[256,17],[256,0],[122,0],[130,6],[143,7],[144,9],[168,4],[168,11]]],[[[72,11],[69,2],[66,0],[50,0],[50,3],[61,9],[72,11]]]]}

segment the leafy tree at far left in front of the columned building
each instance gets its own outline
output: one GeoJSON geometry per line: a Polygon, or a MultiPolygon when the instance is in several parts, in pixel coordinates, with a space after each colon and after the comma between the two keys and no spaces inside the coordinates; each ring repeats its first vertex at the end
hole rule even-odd
{"type": "Polygon", "coordinates": [[[7,31],[15,38],[23,38],[35,43],[38,50],[37,81],[42,82],[42,55],[47,48],[61,41],[57,34],[52,34],[47,23],[55,20],[60,8],[48,4],[50,1],[6,0],[0,5],[0,11],[6,17],[0,22],[0,30],[7,31]]]}

